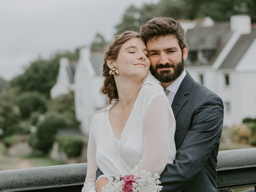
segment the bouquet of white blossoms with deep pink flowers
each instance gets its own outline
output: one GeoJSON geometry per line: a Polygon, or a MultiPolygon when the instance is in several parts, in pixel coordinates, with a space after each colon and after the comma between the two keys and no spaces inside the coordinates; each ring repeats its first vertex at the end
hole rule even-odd
{"type": "Polygon", "coordinates": [[[102,187],[103,192],[159,192],[162,186],[159,174],[152,177],[150,172],[142,170],[139,174],[113,177],[113,181],[102,187]]]}

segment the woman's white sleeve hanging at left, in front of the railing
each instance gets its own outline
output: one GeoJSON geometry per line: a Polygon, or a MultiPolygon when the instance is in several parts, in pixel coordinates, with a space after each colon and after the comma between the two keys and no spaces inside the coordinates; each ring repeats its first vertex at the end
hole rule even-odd
{"type": "Polygon", "coordinates": [[[88,149],[87,149],[87,173],[82,188],[82,192],[96,192],[94,183],[96,178],[96,171],[98,166],[96,164],[96,145],[92,134],[92,126],[89,132],[88,149]]]}

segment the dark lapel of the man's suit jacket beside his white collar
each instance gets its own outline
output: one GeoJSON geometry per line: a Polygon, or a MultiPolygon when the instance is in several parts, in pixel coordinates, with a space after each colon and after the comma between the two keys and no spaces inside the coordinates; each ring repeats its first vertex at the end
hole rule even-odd
{"type": "Polygon", "coordinates": [[[180,87],[178,88],[178,91],[175,94],[174,100],[172,102],[172,111],[175,119],[177,118],[181,108],[187,102],[188,99],[186,98],[186,95],[190,94],[193,83],[193,78],[186,71],[186,76],[181,82],[180,87]]]}

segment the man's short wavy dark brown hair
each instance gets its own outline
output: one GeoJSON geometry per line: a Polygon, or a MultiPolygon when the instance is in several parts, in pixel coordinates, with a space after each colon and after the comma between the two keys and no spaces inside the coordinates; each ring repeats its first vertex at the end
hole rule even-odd
{"type": "Polygon", "coordinates": [[[181,50],[186,47],[186,34],[183,27],[180,22],[170,17],[156,17],[149,20],[140,27],[140,34],[145,44],[159,36],[172,35],[177,38],[181,50]]]}

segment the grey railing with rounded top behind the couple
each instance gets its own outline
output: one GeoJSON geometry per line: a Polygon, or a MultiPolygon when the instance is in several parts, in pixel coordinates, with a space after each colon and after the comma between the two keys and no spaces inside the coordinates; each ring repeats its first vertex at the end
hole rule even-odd
{"type": "MultiPolygon", "coordinates": [[[[87,164],[68,164],[0,171],[0,192],[80,192],[87,164]]],[[[256,148],[220,151],[217,166],[220,191],[254,186],[256,148]]]]}

